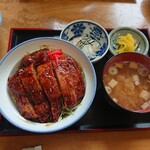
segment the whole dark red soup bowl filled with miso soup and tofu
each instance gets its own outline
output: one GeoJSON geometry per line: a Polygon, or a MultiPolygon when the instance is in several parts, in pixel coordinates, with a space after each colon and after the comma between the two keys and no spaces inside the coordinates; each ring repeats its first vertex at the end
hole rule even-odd
{"type": "Polygon", "coordinates": [[[106,100],[115,108],[150,112],[150,57],[122,53],[107,61],[102,75],[106,100]]]}

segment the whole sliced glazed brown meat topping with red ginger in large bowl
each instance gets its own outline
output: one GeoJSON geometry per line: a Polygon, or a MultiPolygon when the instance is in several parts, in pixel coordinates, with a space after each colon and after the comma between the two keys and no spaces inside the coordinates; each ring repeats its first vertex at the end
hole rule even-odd
{"type": "Polygon", "coordinates": [[[45,48],[25,55],[16,75],[8,79],[8,86],[20,114],[26,119],[57,122],[63,111],[76,107],[85,94],[81,67],[60,49],[45,48]],[[15,78],[15,81],[16,75],[18,87],[10,80],[15,78]]]}

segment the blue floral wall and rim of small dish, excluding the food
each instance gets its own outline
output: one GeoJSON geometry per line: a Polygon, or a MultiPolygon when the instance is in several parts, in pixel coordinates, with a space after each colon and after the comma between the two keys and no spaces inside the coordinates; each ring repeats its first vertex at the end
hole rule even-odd
{"type": "Polygon", "coordinates": [[[95,57],[89,58],[92,63],[97,62],[107,53],[110,44],[108,33],[101,25],[90,20],[76,20],[62,30],[60,38],[71,42],[74,38],[81,37],[83,34],[85,38],[90,38],[99,44],[95,57]]]}

